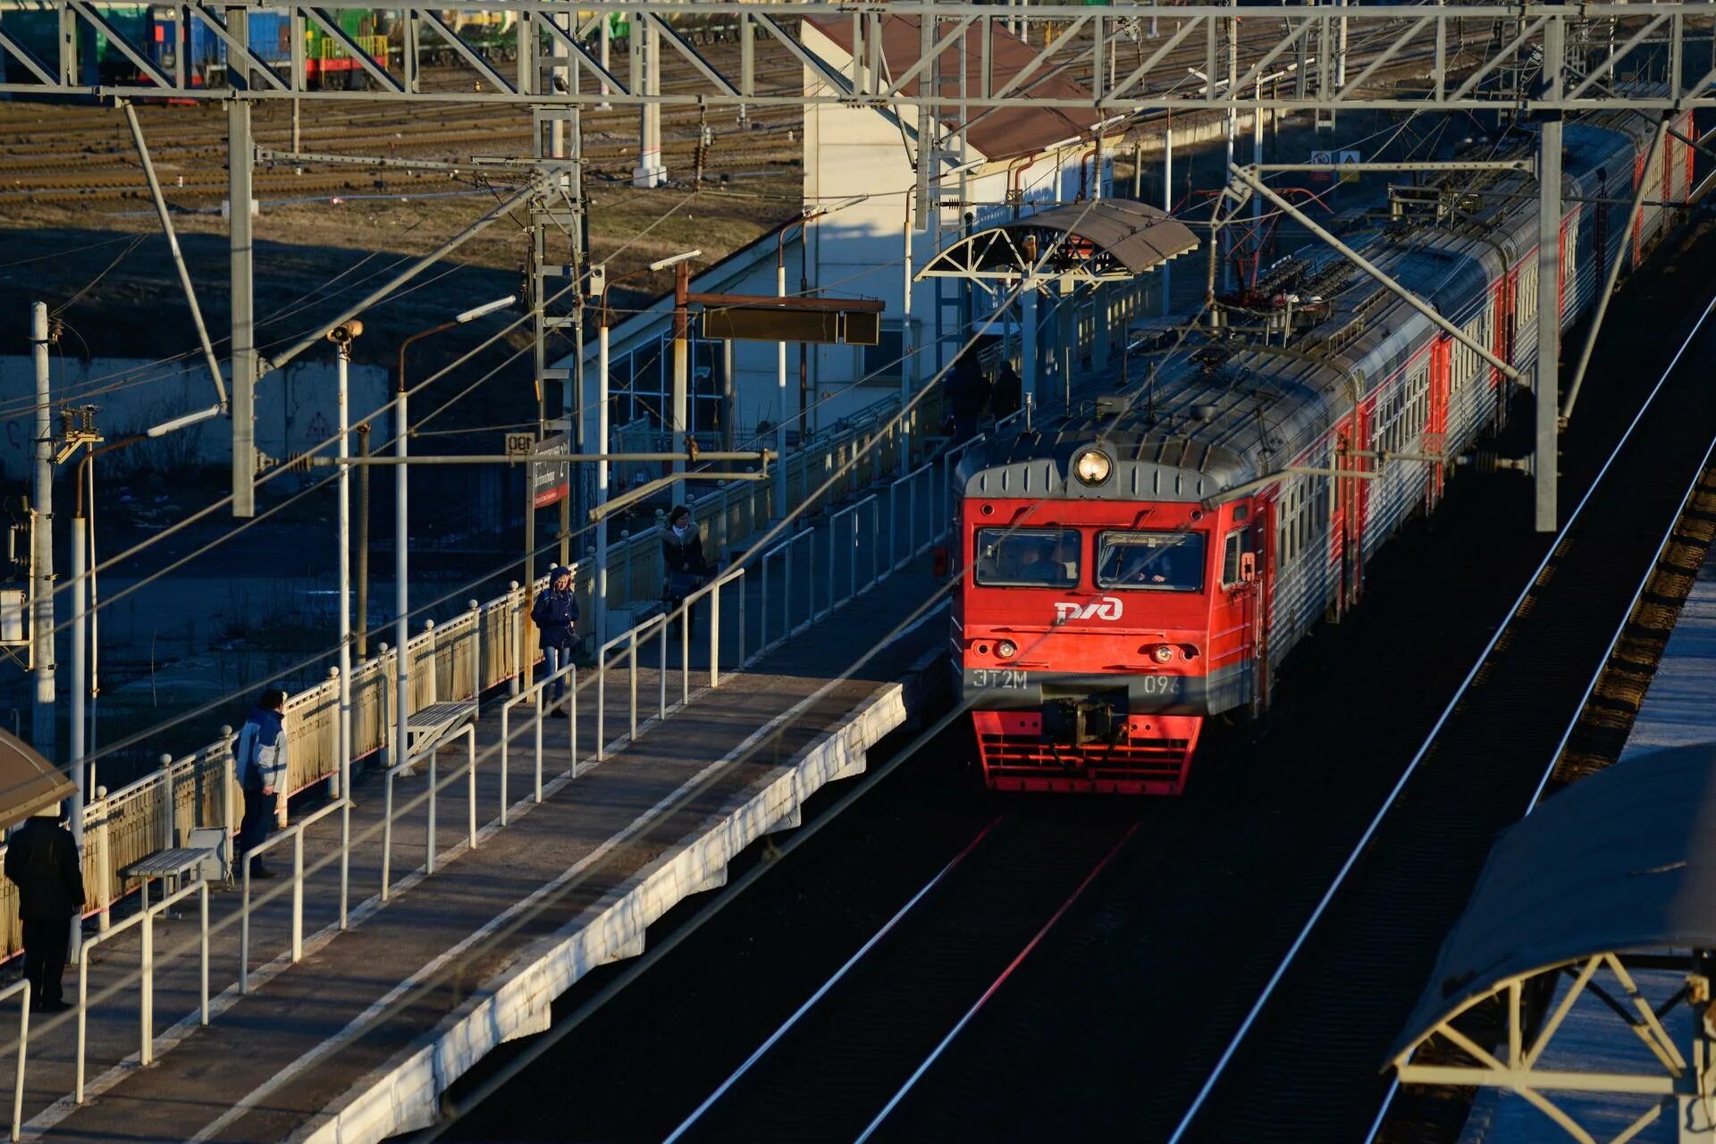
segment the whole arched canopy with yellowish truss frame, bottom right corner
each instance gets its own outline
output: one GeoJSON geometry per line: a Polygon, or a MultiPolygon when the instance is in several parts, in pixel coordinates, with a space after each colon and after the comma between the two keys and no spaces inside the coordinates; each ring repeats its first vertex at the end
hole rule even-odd
{"type": "MultiPolygon", "coordinates": [[[[1671,1019],[1634,981],[1640,967],[1707,978],[1716,950],[1716,743],[1639,755],[1546,799],[1489,852],[1460,921],[1390,1062],[1405,1082],[1507,1087],[1580,1135],[1544,1093],[1582,1091],[1668,1099],[1709,1084],[1690,1075],[1687,1029],[1709,1002],[1682,990],[1702,1022],[1671,1019]],[[1534,1019],[1531,998],[1553,996],[1534,1019]],[[1637,1036],[1661,1070],[1580,1072],[1543,1067],[1582,996],[1616,1014],[1615,1036],[1637,1036]],[[1488,1000],[1507,1034],[1462,1029],[1488,1000]],[[1678,1034],[1671,1036],[1673,1027],[1678,1034]],[[1443,1039],[1474,1063],[1445,1063],[1443,1039]]],[[[1493,1010],[1491,1010],[1493,1012],[1493,1010]]],[[[1469,1027],[1469,1026],[1467,1026],[1469,1027]]],[[[1493,1027],[1493,1026],[1491,1026],[1493,1027]]],[[[1553,1057],[1551,1057],[1553,1058],[1553,1057]]],[[[1661,1105],[1639,1117],[1654,1120],[1661,1105]]]]}

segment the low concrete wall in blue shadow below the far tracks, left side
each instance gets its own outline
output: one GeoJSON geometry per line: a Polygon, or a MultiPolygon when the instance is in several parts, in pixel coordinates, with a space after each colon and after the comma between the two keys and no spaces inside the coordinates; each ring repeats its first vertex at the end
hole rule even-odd
{"type": "MultiPolygon", "coordinates": [[[[55,405],[94,405],[96,427],[108,441],[142,432],[173,417],[214,405],[214,384],[201,362],[154,365],[144,358],[50,358],[55,405]]],[[[266,376],[256,386],[256,448],[269,456],[307,451],[326,441],[338,424],[335,364],[297,362],[266,376]]],[[[353,365],[348,408],[352,424],[388,401],[388,370],[353,365]]],[[[0,357],[0,473],[26,480],[33,458],[36,417],[29,408],[36,369],[29,357],[0,357]]],[[[390,436],[386,415],[369,418],[371,441],[390,436]]],[[[58,432],[58,413],[53,429],[58,432]]],[[[232,422],[225,417],[182,429],[158,441],[132,446],[103,460],[106,472],[137,465],[230,465],[232,422]]]]}

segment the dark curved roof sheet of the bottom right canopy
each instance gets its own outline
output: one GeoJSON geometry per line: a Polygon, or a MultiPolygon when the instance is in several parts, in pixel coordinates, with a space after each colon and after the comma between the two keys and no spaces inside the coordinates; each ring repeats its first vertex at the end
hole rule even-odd
{"type": "Polygon", "coordinates": [[[1615,763],[1507,830],[1390,1060],[1508,978],[1663,948],[1716,948],[1716,743],[1615,763]]]}

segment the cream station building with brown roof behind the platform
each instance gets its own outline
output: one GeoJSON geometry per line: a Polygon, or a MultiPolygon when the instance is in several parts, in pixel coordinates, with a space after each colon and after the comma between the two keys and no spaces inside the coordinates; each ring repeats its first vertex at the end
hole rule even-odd
{"type": "MultiPolygon", "coordinates": [[[[882,58],[891,75],[913,72],[920,27],[911,17],[882,22],[882,58]]],[[[975,41],[973,41],[975,43],[975,41]]],[[[831,91],[851,67],[848,21],[803,22],[803,45],[829,65],[805,69],[807,93],[831,91]]],[[[966,79],[976,89],[982,69],[995,82],[1023,77],[1024,94],[1081,98],[1086,89],[1062,75],[1033,77],[1036,48],[997,33],[994,60],[968,51],[966,79]]],[[[1093,110],[1028,106],[954,118],[959,55],[903,84],[937,82],[951,99],[937,139],[920,141],[913,106],[875,108],[819,103],[805,110],[803,216],[791,220],[721,262],[693,273],[693,293],[776,295],[777,268],[788,295],[873,298],[884,304],[877,345],[788,345],[781,384],[779,343],[712,341],[692,321],[688,431],[707,444],[745,446],[758,431],[788,418],[789,443],[812,441],[865,412],[880,412],[916,393],[951,364],[980,328],[975,346],[992,372],[1002,358],[1026,374],[1021,360],[1019,310],[997,302],[994,283],[949,278],[913,283],[928,259],[976,232],[1035,213],[1109,199],[1114,194],[1114,148],[1121,123],[1093,130],[1093,110]],[[927,72],[935,70],[934,79],[927,72]],[[930,163],[928,202],[916,204],[915,160],[930,163]]],[[[666,274],[657,281],[664,281],[666,274]]],[[[1151,278],[1105,283],[1035,307],[1040,377],[1052,382],[1055,362],[1107,357],[1126,317],[1145,302],[1151,278]],[[1071,343],[1071,358],[1064,350],[1071,343]]],[[[693,307],[695,309],[695,307],[693,307]]],[[[673,295],[654,302],[609,331],[609,427],[659,427],[673,408],[673,295]]],[[[559,362],[570,367],[573,362],[559,362]]],[[[587,328],[583,408],[599,401],[597,341],[587,328]]],[[[934,429],[934,427],[932,427],[934,429]]],[[[594,443],[592,443],[594,444],[594,443]]]]}

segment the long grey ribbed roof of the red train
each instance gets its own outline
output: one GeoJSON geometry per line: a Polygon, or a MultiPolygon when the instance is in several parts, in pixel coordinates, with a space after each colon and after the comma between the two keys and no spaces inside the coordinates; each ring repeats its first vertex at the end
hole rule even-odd
{"type": "MultiPolygon", "coordinates": [[[[1577,180],[1642,151],[1649,125],[1608,113],[1568,123],[1563,172],[1577,180]]],[[[1529,158],[1512,135],[1496,158],[1529,158]]],[[[1484,304],[1486,285],[1536,245],[1532,172],[1483,172],[1428,184],[1450,209],[1431,220],[1347,216],[1344,240],[1455,324],[1484,304]]],[[[1572,192],[1577,194],[1577,192],[1572,192]]],[[[1254,297],[1292,297],[1314,321],[1261,336],[1160,326],[1172,346],[1148,348],[1150,376],[1121,384],[1121,367],[1074,379],[1071,413],[985,439],[959,465],[966,496],[1201,501],[1268,477],[1313,446],[1381,377],[1423,353],[1433,322],[1314,242],[1280,259],[1254,297]],[[1285,341],[1285,345],[1282,345],[1285,341]],[[1072,458],[1098,446],[1114,461],[1100,487],[1069,482],[1072,458]]],[[[1241,316],[1246,309],[1232,307],[1241,316]]],[[[1256,314],[1263,314],[1256,310],[1256,314]]],[[[1289,307],[1290,314],[1290,307],[1289,307]]],[[[1133,370],[1138,372],[1138,350],[1133,370]]]]}

